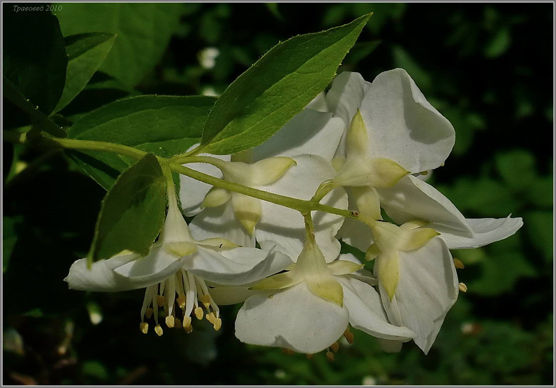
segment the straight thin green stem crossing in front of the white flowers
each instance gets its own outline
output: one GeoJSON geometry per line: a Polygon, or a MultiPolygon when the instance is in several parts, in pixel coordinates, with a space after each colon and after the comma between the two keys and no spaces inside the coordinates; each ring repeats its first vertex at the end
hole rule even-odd
{"type": "MultiPolygon", "coordinates": [[[[201,158],[201,156],[199,156],[198,158],[201,158]]],[[[200,173],[199,171],[177,164],[174,161],[170,161],[168,163],[168,166],[177,173],[190,176],[191,178],[200,180],[201,182],[205,182],[210,185],[220,187],[222,189],[235,191],[236,193],[249,195],[249,197],[259,198],[266,202],[275,203],[286,208],[298,210],[301,213],[311,212],[312,210],[319,210],[320,212],[337,214],[341,215],[342,217],[349,218],[358,218],[359,215],[357,212],[352,212],[351,210],[338,209],[319,203],[315,204],[312,203],[310,200],[307,201],[303,199],[286,197],[285,195],[269,193],[268,191],[254,189],[224,179],[215,178],[212,175],[200,173]]]]}

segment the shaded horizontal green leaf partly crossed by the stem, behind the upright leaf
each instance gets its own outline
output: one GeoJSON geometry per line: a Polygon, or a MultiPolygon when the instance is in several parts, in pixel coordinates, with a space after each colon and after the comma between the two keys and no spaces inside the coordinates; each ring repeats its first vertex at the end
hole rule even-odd
{"type": "MultiPolygon", "coordinates": [[[[184,153],[201,140],[214,97],[134,96],[103,106],[77,120],[69,137],[110,141],[165,158],[184,153]]],[[[110,189],[127,158],[95,151],[68,153],[98,184],[110,189]]]]}

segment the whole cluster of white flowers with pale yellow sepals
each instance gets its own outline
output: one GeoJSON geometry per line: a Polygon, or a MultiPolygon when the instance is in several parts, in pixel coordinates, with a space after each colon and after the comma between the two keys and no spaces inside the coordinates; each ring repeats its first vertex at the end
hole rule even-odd
{"type": "Polygon", "coordinates": [[[205,318],[219,330],[219,305],[244,302],[235,332],[246,343],[332,358],[340,337],[353,341],[351,326],[386,351],[413,340],[427,353],[466,291],[450,249],[507,238],[523,224],[465,218],[426,183],[454,141],[453,126],[404,70],[373,82],[341,73],[266,143],[187,167],[353,217],[302,214],[182,175],[178,197],[168,186],[166,221],[147,256],[121,252],[91,268],[80,259],[66,281],[90,291],[146,288],[143,333],[151,318],[159,336],[162,318],[187,332],[205,318]],[[340,240],[365,261],[340,254],[340,240]],[[371,261],[372,272],[363,268],[371,261]]]}

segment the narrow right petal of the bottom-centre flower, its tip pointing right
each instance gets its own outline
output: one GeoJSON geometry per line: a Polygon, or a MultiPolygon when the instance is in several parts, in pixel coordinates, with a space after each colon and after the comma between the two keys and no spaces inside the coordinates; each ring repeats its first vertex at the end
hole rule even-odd
{"type": "Polygon", "coordinates": [[[344,289],[344,304],[351,326],[378,338],[409,341],[415,333],[407,327],[391,325],[383,310],[378,292],[369,284],[349,276],[337,276],[344,289]]]}

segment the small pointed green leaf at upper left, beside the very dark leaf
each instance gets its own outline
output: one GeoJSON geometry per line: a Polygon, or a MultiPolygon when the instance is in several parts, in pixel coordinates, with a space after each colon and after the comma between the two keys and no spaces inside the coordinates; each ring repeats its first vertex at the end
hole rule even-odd
{"type": "Polygon", "coordinates": [[[85,88],[110,52],[115,38],[116,35],[102,32],[78,34],[66,38],[68,56],[66,85],[54,112],[68,105],[85,88]]]}

